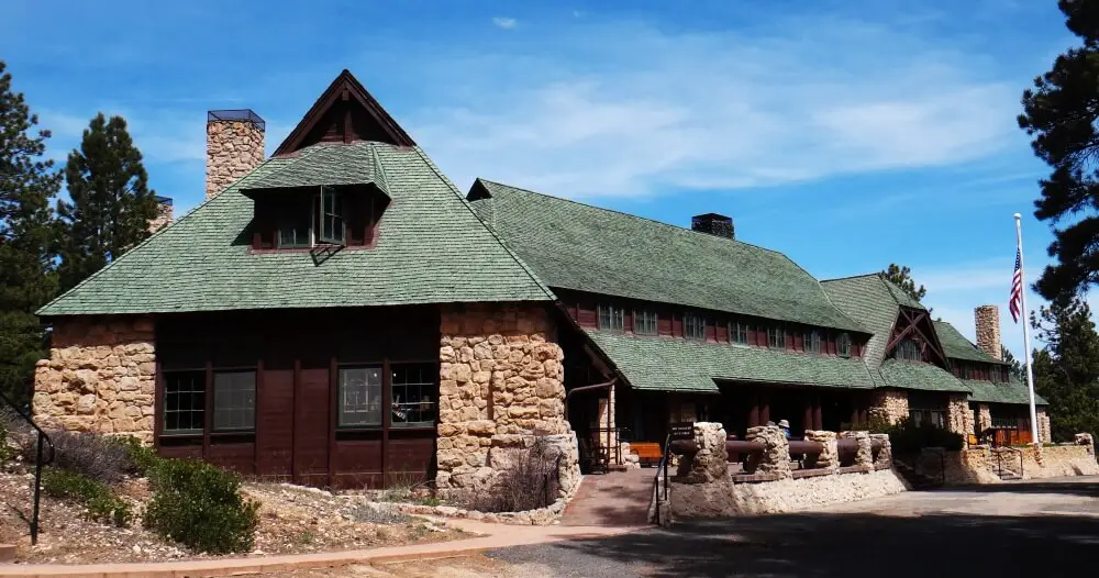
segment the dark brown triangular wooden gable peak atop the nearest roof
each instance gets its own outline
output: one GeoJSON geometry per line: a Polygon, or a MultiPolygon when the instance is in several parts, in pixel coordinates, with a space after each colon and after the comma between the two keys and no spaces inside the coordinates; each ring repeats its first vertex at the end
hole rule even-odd
{"type": "Polygon", "coordinates": [[[319,142],[354,141],[415,146],[404,129],[345,68],[275,149],[275,156],[285,156],[319,142]]]}

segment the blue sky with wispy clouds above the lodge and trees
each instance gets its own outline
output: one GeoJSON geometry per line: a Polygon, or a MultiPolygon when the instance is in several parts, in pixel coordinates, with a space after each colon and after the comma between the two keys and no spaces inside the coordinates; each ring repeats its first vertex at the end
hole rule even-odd
{"type": "Polygon", "coordinates": [[[254,109],[270,152],[348,68],[459,188],[724,213],[822,279],[908,264],[970,337],[999,304],[1020,352],[1011,214],[1031,280],[1051,234],[1014,119],[1074,43],[1053,0],[226,5],[9,0],[0,58],[58,159],[123,114],[177,214],[202,197],[207,110],[254,109]]]}

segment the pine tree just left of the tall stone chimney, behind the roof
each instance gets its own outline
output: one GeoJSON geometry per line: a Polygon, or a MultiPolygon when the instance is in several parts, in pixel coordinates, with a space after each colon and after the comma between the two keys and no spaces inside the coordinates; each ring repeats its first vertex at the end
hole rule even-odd
{"type": "Polygon", "coordinates": [[[79,151],[65,166],[71,202],[57,203],[60,216],[60,285],[76,286],[148,236],[158,208],[141,152],[122,116],[102,113],[84,131],[79,151]]]}

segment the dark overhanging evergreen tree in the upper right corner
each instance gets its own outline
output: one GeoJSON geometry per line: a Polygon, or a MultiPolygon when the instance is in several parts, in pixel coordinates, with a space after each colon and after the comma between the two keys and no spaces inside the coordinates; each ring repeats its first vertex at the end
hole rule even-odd
{"type": "Polygon", "coordinates": [[[1019,126],[1052,171],[1041,181],[1034,215],[1054,227],[1051,256],[1035,288],[1046,299],[1073,296],[1099,281],[1099,0],[1061,0],[1081,45],[1023,92],[1019,126]]]}

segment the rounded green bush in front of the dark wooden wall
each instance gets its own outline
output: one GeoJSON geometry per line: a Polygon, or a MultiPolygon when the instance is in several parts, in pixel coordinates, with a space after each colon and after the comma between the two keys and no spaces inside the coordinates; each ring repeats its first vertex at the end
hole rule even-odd
{"type": "Polygon", "coordinates": [[[197,552],[252,549],[259,503],[241,497],[238,476],[199,462],[165,459],[149,479],[146,527],[197,552]]]}

